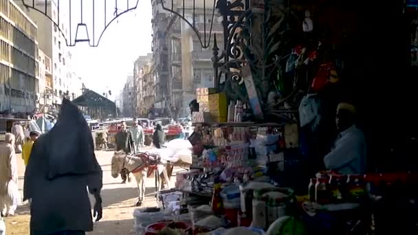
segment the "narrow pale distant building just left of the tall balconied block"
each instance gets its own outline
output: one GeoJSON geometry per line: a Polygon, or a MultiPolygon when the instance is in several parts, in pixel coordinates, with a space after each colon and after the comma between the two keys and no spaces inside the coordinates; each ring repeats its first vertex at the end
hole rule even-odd
{"type": "Polygon", "coordinates": [[[153,58],[153,54],[149,53],[146,56],[140,56],[133,63],[133,91],[134,91],[134,115],[136,117],[142,116],[141,100],[144,99],[144,65],[148,64],[153,58]]]}

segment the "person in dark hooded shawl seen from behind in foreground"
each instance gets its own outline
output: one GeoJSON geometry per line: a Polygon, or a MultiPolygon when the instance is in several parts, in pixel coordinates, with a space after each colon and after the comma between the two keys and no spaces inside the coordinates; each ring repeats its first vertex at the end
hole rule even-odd
{"type": "Polygon", "coordinates": [[[63,100],[58,122],[39,137],[25,171],[23,200],[31,199],[31,235],[78,235],[102,218],[102,169],[94,155],[89,126],[78,108],[63,100]]]}

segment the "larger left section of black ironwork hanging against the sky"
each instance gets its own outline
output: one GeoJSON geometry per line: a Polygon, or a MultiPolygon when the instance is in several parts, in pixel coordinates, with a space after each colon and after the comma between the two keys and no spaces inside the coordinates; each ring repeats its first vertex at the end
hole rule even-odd
{"type": "Polygon", "coordinates": [[[135,10],[139,0],[21,0],[25,8],[45,15],[58,28],[69,47],[87,42],[97,47],[107,27],[119,16],[135,10]],[[75,8],[75,9],[74,9],[75,8]],[[101,9],[101,11],[98,9],[101,9]],[[89,18],[84,16],[88,11],[89,18]],[[99,18],[100,17],[100,18],[99,18]],[[68,28],[64,28],[68,25],[68,28]]]}

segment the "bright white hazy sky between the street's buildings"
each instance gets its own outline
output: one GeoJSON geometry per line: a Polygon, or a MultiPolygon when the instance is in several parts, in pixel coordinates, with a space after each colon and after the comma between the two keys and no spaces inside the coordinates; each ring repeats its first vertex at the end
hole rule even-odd
{"type": "MultiPolygon", "coordinates": [[[[83,13],[87,19],[89,14],[87,10],[83,13]]],[[[87,43],[72,47],[72,67],[87,88],[99,93],[111,90],[111,99],[115,99],[126,76],[133,72],[136,58],[151,52],[151,16],[151,0],[140,0],[135,10],[119,16],[107,27],[98,47],[87,43]]]]}

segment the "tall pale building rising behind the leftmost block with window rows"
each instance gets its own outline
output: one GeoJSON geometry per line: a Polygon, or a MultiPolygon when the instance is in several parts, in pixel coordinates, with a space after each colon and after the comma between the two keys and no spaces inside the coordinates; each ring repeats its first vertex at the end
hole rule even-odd
{"type": "MultiPolygon", "coordinates": [[[[51,17],[52,21],[48,19],[44,14],[37,12],[36,10],[29,10],[22,7],[23,10],[30,16],[30,19],[38,25],[38,41],[39,47],[45,54],[45,56],[51,59],[52,64],[52,93],[53,104],[58,106],[61,104],[61,100],[65,96],[69,96],[72,91],[71,80],[71,58],[70,47],[67,47],[65,38],[68,38],[69,22],[67,20],[67,9],[63,8],[65,4],[61,4],[61,8],[58,11],[58,5],[56,0],[35,0],[36,9],[47,9],[46,14],[51,17]],[[46,3],[46,5],[45,5],[46,3]],[[59,21],[58,21],[59,14],[59,21]],[[57,27],[54,22],[59,23],[57,27]]],[[[19,5],[22,5],[19,1],[19,5]]]]}

